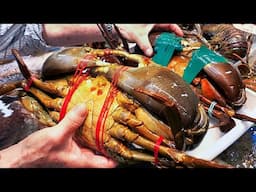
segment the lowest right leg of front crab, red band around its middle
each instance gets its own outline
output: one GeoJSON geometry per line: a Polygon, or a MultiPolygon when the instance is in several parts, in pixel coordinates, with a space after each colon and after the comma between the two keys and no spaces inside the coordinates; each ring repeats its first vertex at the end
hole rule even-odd
{"type": "MultiPolygon", "coordinates": [[[[113,126],[109,130],[109,134],[117,139],[125,140],[150,151],[154,151],[154,142],[141,137],[139,134],[132,132],[123,125],[113,126]]],[[[176,163],[186,165],[187,167],[231,168],[229,165],[222,165],[214,161],[207,161],[189,156],[184,152],[178,151],[172,147],[159,146],[159,154],[169,157],[176,163]]]]}

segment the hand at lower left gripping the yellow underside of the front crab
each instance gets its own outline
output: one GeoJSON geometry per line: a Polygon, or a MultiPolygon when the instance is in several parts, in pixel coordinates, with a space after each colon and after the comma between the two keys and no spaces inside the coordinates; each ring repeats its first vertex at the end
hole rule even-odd
{"type": "Polygon", "coordinates": [[[114,168],[114,161],[81,148],[73,140],[74,132],[82,125],[86,116],[84,104],[75,107],[58,125],[34,132],[0,153],[0,166],[4,165],[1,162],[18,157],[17,161],[8,166],[114,168]]]}

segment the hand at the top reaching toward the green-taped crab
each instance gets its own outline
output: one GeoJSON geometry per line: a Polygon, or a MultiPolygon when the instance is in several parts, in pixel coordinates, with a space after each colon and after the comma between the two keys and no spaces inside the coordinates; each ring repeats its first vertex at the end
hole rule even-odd
{"type": "Polygon", "coordinates": [[[116,24],[122,36],[130,42],[135,42],[148,57],[153,55],[153,48],[149,41],[151,31],[169,31],[183,36],[177,24],[116,24]]]}

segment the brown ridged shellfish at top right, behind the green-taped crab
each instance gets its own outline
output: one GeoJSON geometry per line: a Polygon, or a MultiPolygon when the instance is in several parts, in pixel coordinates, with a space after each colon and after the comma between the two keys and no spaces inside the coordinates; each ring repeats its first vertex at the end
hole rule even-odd
{"type": "Polygon", "coordinates": [[[231,62],[244,58],[248,53],[250,35],[232,24],[196,24],[194,27],[190,25],[189,30],[185,30],[186,35],[196,36],[207,47],[231,62]]]}

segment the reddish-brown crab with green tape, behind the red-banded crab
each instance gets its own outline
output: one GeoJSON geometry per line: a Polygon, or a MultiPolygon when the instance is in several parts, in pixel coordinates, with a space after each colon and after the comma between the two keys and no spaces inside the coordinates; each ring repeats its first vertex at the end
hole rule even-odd
{"type": "MultiPolygon", "coordinates": [[[[153,46],[160,35],[161,33],[151,35],[153,46]]],[[[193,72],[197,72],[195,77],[187,82],[191,84],[209,116],[219,120],[215,127],[227,132],[235,126],[233,118],[255,123],[255,118],[236,112],[247,100],[240,71],[225,57],[204,46],[206,43],[207,41],[199,41],[198,37],[182,38],[182,50],[173,54],[167,67],[183,79],[189,79],[193,72]],[[203,65],[201,61],[208,63],[203,65]]],[[[239,52],[238,49],[234,50],[239,52]]],[[[239,69],[246,68],[239,65],[239,69]]]]}

